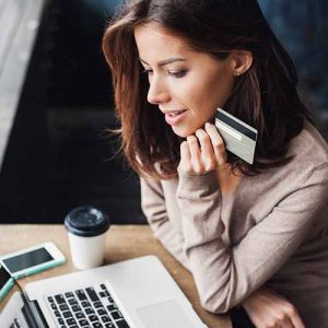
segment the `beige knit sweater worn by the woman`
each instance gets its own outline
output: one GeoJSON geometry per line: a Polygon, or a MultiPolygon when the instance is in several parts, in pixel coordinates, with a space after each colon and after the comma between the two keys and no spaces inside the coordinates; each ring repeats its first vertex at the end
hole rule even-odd
{"type": "Polygon", "coordinates": [[[244,176],[229,197],[215,172],[142,178],[142,209],[209,312],[225,313],[266,284],[306,327],[328,327],[328,147],[306,122],[289,155],[282,167],[244,176]]]}

